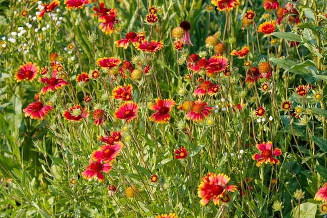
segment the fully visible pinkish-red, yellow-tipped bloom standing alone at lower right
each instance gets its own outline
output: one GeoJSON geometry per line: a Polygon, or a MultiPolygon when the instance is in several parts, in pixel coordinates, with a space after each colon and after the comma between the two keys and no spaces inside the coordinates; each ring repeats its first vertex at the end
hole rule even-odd
{"type": "Polygon", "coordinates": [[[279,160],[274,158],[274,156],[281,155],[281,149],[273,148],[272,142],[264,142],[262,144],[256,145],[257,149],[259,149],[260,154],[254,154],[252,156],[253,160],[257,160],[256,166],[260,166],[262,163],[271,163],[271,164],[279,164],[279,160]]]}

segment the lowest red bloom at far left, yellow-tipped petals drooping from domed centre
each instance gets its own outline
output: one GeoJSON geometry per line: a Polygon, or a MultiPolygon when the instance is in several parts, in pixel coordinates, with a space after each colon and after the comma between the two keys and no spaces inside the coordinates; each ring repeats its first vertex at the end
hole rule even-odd
{"type": "Polygon", "coordinates": [[[49,105],[43,105],[42,102],[36,101],[30,103],[27,108],[23,109],[25,113],[25,117],[31,117],[31,119],[39,119],[43,120],[45,115],[48,114],[48,111],[52,110],[53,108],[49,105]]]}

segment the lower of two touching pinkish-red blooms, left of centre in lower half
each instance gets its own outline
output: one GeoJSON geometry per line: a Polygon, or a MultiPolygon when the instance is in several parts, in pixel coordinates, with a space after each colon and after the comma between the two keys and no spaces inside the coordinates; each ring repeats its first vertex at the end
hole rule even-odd
{"type": "Polygon", "coordinates": [[[97,177],[99,182],[103,182],[104,176],[102,172],[108,173],[111,170],[111,163],[112,162],[94,162],[90,159],[90,165],[86,166],[86,170],[82,172],[82,176],[85,179],[93,179],[94,177],[97,177]]]}

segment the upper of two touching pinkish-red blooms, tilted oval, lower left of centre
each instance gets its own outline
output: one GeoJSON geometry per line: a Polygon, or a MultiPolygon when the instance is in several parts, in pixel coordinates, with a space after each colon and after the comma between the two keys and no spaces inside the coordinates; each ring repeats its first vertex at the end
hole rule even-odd
{"type": "Polygon", "coordinates": [[[116,142],[113,145],[103,145],[92,153],[92,159],[95,161],[110,162],[117,157],[123,147],[121,142],[116,142]]]}

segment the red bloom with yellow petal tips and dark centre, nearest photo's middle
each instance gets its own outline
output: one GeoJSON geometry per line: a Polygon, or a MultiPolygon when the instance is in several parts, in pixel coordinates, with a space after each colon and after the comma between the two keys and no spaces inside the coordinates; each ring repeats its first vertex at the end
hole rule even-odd
{"type": "Polygon", "coordinates": [[[170,110],[175,105],[175,101],[172,99],[162,100],[161,98],[156,99],[156,103],[150,106],[151,110],[157,111],[152,114],[149,119],[156,123],[168,123],[170,119],[170,110]]]}

